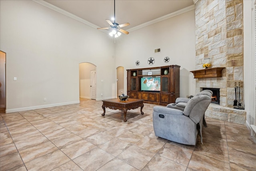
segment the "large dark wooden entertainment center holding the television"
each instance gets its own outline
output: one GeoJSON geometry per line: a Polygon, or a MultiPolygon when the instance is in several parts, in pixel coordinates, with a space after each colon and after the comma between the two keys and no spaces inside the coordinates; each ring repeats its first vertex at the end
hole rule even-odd
{"type": "MultiPolygon", "coordinates": [[[[144,103],[168,105],[180,96],[180,66],[170,65],[153,68],[130,69],[127,71],[127,95],[133,99],[143,99],[144,103]],[[147,80],[145,80],[145,78],[147,80]],[[141,84],[160,79],[160,89],[142,90],[141,84]],[[142,82],[142,79],[144,82],[142,82]]],[[[159,85],[158,85],[159,86],[159,85]]]]}

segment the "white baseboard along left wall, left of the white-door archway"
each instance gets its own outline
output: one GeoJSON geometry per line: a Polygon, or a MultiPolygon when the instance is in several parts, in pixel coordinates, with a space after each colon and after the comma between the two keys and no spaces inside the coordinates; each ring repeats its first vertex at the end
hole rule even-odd
{"type": "Polygon", "coordinates": [[[21,108],[16,108],[16,109],[6,109],[5,113],[42,109],[42,108],[56,107],[56,106],[62,106],[62,105],[71,105],[71,104],[77,104],[77,103],[80,103],[80,101],[70,101],[70,102],[65,102],[65,103],[55,103],[55,104],[49,104],[49,105],[39,105],[39,106],[21,107],[21,108]]]}

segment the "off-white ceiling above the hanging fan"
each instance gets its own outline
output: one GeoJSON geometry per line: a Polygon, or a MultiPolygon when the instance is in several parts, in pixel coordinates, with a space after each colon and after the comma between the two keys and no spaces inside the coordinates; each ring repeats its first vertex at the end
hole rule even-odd
{"type": "MultiPolygon", "coordinates": [[[[98,27],[110,27],[106,19],[114,17],[114,0],[44,0],[98,27]]],[[[193,0],[116,0],[116,23],[129,22],[124,30],[172,14],[193,5],[193,0]]],[[[112,21],[114,22],[114,21],[112,21]]]]}

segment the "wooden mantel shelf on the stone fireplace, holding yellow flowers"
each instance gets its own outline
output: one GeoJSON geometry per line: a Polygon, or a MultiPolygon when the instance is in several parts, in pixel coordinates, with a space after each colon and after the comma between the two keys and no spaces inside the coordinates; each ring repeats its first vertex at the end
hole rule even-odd
{"type": "Polygon", "coordinates": [[[211,78],[222,77],[222,70],[225,67],[207,68],[203,70],[190,71],[194,74],[194,78],[211,78]]]}

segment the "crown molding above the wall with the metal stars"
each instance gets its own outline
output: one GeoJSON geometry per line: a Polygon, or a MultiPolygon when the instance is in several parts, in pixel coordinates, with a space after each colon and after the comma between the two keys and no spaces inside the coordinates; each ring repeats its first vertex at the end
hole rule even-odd
{"type": "Polygon", "coordinates": [[[138,29],[140,29],[140,28],[142,28],[142,27],[146,27],[146,26],[149,26],[149,25],[151,25],[151,24],[155,24],[155,23],[160,22],[160,21],[162,21],[162,20],[166,20],[166,19],[168,19],[168,18],[172,18],[172,17],[174,17],[174,16],[180,15],[180,14],[182,14],[182,13],[185,13],[185,12],[188,12],[188,11],[191,11],[191,10],[194,10],[194,9],[195,9],[195,5],[191,5],[191,6],[188,6],[188,7],[186,7],[186,8],[183,8],[183,9],[181,9],[181,10],[178,10],[178,11],[176,11],[176,12],[172,12],[172,13],[167,14],[167,15],[165,15],[165,16],[156,18],[156,19],[151,20],[151,21],[149,21],[149,22],[145,22],[145,23],[143,23],[143,24],[140,24],[140,25],[138,25],[138,26],[135,26],[135,27],[133,27],[133,28],[130,28],[130,29],[128,29],[127,31],[128,31],[128,32],[132,32],[132,31],[138,30],[138,29]]]}

